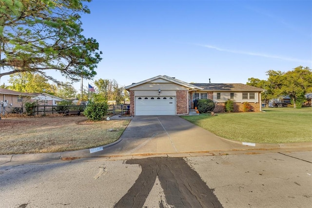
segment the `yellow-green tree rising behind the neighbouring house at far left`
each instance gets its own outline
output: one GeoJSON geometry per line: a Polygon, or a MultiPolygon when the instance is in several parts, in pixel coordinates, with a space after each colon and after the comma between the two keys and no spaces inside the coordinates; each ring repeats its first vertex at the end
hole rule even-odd
{"type": "Polygon", "coordinates": [[[39,74],[30,72],[20,72],[10,75],[8,81],[10,90],[21,93],[48,93],[55,95],[57,87],[48,82],[48,79],[39,74]]]}

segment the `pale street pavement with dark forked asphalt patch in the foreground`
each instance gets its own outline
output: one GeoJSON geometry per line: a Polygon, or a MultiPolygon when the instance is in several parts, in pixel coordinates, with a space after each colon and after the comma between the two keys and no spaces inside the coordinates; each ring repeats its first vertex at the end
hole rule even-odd
{"type": "Polygon", "coordinates": [[[312,205],[312,151],[111,159],[1,165],[0,207],[308,208],[312,205]]]}

